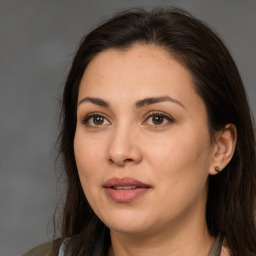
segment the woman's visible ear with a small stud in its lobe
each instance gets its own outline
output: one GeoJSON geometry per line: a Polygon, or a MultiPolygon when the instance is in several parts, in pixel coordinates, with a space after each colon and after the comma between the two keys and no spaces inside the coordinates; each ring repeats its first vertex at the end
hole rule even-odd
{"type": "Polygon", "coordinates": [[[233,124],[227,124],[215,136],[209,174],[215,175],[230,162],[236,147],[237,132],[233,124]]]}

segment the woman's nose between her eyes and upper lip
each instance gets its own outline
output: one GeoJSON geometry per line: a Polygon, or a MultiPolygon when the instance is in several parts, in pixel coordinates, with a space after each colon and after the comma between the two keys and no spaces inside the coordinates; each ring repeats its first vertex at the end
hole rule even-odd
{"type": "Polygon", "coordinates": [[[113,129],[108,147],[110,164],[125,166],[138,164],[142,160],[138,133],[131,126],[119,126],[113,129]]]}

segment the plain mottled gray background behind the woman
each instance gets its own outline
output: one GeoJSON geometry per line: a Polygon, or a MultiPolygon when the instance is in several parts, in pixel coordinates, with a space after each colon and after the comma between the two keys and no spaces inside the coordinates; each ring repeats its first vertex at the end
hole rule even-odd
{"type": "Polygon", "coordinates": [[[102,17],[156,4],[185,8],[215,28],[256,113],[255,0],[0,0],[1,256],[51,238],[58,99],[78,41],[102,17]]]}

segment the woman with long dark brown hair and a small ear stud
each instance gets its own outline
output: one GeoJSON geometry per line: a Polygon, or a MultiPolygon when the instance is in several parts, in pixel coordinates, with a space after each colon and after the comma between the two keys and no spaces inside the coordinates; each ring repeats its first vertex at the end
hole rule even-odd
{"type": "Polygon", "coordinates": [[[62,106],[61,237],[38,255],[256,255],[253,121],[204,23],[115,15],[82,40],[62,106]]]}

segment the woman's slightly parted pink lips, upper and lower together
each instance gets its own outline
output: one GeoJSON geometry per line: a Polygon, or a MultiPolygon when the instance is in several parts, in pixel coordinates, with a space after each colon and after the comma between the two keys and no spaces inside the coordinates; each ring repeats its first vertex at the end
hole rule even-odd
{"type": "Polygon", "coordinates": [[[103,184],[106,195],[117,203],[134,201],[149,191],[151,186],[130,177],[111,178],[103,184]],[[127,189],[127,187],[131,187],[127,189]]]}

